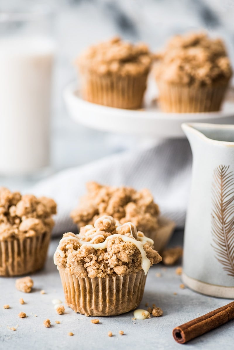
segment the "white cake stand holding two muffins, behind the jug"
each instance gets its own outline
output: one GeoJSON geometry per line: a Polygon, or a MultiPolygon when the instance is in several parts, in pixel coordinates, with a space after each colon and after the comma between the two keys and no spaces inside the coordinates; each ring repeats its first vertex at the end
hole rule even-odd
{"type": "Polygon", "coordinates": [[[219,112],[164,113],[153,100],[155,93],[154,87],[148,87],[144,107],[139,110],[112,108],[84,101],[77,83],[66,87],[64,99],[71,118],[77,123],[100,131],[140,135],[146,138],[184,138],[181,124],[185,122],[234,123],[232,100],[227,99],[219,112]]]}

